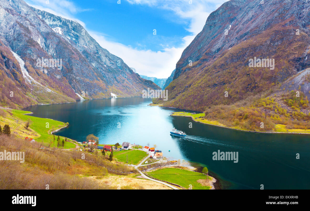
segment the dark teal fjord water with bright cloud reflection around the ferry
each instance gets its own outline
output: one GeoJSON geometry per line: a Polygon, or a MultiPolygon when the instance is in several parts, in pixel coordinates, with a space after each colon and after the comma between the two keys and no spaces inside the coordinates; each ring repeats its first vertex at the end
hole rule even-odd
{"type": "Polygon", "coordinates": [[[69,122],[57,135],[85,141],[88,134],[100,144],[157,145],[170,159],[208,167],[226,189],[310,189],[310,135],[242,132],[170,116],[179,109],[147,106],[150,99],[112,98],[77,103],[31,106],[33,116],[69,122]],[[193,128],[189,128],[189,122],[193,128]],[[117,125],[121,125],[117,128],[117,125]],[[184,138],[170,136],[175,127],[184,138]],[[169,152],[170,150],[170,152],[169,152]],[[238,163],[212,159],[212,153],[238,152],[238,163]],[[296,159],[299,153],[300,159],[296,159]]]}

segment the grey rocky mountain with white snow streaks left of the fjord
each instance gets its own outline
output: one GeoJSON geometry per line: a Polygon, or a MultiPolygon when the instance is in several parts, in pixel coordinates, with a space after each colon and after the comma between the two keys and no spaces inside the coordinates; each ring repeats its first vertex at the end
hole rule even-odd
{"type": "Polygon", "coordinates": [[[111,92],[133,97],[159,88],[102,48],[78,22],[22,0],[0,5],[2,106],[108,98],[111,92]]]}

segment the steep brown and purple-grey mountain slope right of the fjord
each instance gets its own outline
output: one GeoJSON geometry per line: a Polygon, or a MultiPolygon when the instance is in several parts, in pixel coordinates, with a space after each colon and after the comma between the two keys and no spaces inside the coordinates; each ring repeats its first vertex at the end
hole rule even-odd
{"type": "MultiPolygon", "coordinates": [[[[282,84],[294,83],[292,79],[310,67],[309,16],[310,4],[305,0],[225,2],[209,15],[202,31],[183,51],[176,64],[173,81],[166,87],[169,90],[168,101],[154,99],[153,103],[205,111],[206,116],[215,120],[222,118],[222,114],[229,114],[227,124],[235,120],[236,124],[245,121],[237,115],[244,111],[243,106],[249,106],[250,110],[254,106],[256,112],[261,109],[267,114],[271,109],[273,113],[270,115],[279,115],[279,119],[283,117],[282,123],[285,118],[306,121],[309,112],[307,98],[310,97],[308,70],[303,72],[298,87],[304,96],[302,101],[300,98],[297,101],[304,107],[293,108],[300,115],[292,112],[278,114],[279,109],[274,110],[276,105],[266,108],[265,104],[257,101],[275,97],[279,106],[280,101],[282,108],[287,106],[283,99],[289,97],[293,87],[283,87],[282,84]],[[251,59],[274,59],[274,68],[266,67],[267,60],[264,61],[266,66],[255,67],[251,65],[251,59]]],[[[261,116],[253,120],[253,125],[257,125],[260,119],[261,116]]]]}

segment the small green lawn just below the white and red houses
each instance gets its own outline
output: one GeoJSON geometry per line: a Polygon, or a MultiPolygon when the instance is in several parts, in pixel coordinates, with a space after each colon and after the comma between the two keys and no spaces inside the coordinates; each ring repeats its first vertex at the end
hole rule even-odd
{"type": "Polygon", "coordinates": [[[128,164],[134,165],[139,164],[139,162],[147,156],[146,152],[142,150],[122,150],[113,152],[113,157],[120,162],[126,163],[126,155],[128,155],[128,164]]]}

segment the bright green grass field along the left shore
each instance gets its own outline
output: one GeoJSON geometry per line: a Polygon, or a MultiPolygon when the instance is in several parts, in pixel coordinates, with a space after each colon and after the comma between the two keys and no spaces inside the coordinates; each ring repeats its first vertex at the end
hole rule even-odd
{"type": "MultiPolygon", "coordinates": [[[[31,128],[31,130],[37,132],[40,135],[40,137],[35,138],[36,141],[38,141],[38,142],[43,141],[43,143],[45,145],[49,145],[50,141],[52,141],[50,147],[53,147],[53,146],[57,147],[57,136],[55,135],[55,143],[54,143],[53,142],[53,140],[54,140],[53,136],[49,135],[48,131],[51,129],[54,129],[54,128],[56,129],[56,128],[59,128],[61,126],[64,126],[65,123],[60,122],[60,121],[56,121],[53,119],[45,119],[45,118],[39,118],[39,117],[24,115],[24,114],[29,114],[30,113],[29,111],[14,110],[14,109],[10,109],[8,111],[11,112],[13,114],[13,116],[15,116],[16,118],[18,118],[22,121],[22,123],[20,123],[20,124],[24,124],[24,122],[26,122],[28,119],[30,119],[32,121],[29,128],[31,128]],[[48,128],[47,128],[47,123],[49,126],[48,128]]],[[[24,136],[26,137],[27,135],[25,134],[24,136]]],[[[22,135],[20,135],[20,137],[25,138],[25,137],[22,137],[22,135]]],[[[62,139],[65,139],[65,137],[60,136],[60,142],[62,141],[62,139]]],[[[65,149],[75,148],[75,144],[67,141],[67,142],[65,142],[64,148],[65,149]]]]}

